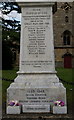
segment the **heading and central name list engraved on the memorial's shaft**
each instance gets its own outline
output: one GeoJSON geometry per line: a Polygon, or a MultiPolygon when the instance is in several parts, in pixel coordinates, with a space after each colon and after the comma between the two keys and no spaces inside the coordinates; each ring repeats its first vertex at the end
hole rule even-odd
{"type": "Polygon", "coordinates": [[[46,52],[46,32],[49,27],[50,15],[42,8],[31,8],[24,16],[24,29],[27,32],[28,54],[39,54],[46,52]]]}

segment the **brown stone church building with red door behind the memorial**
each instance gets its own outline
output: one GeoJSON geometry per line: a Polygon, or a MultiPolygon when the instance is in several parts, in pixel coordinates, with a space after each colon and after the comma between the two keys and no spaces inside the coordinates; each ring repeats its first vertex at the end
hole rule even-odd
{"type": "Polygon", "coordinates": [[[57,2],[57,11],[53,15],[56,67],[74,67],[74,2],[57,2]]]}

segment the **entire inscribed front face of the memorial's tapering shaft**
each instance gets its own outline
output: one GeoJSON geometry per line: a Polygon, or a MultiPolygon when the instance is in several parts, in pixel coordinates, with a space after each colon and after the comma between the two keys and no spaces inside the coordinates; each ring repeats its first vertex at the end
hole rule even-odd
{"type": "Polygon", "coordinates": [[[29,71],[48,71],[53,64],[51,55],[50,7],[26,7],[23,9],[24,56],[21,65],[29,71]],[[39,68],[39,69],[37,69],[39,68]],[[46,70],[47,68],[47,70],[46,70]]]}

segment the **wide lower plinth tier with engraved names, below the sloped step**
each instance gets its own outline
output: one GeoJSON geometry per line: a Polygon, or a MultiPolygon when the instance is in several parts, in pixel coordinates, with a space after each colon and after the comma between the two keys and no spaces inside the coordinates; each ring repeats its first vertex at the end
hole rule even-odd
{"type": "Polygon", "coordinates": [[[58,99],[64,101],[66,105],[66,89],[61,83],[52,83],[44,87],[16,83],[10,86],[8,95],[10,95],[8,100],[16,99],[23,105],[51,105],[52,108],[53,102],[58,99]]]}

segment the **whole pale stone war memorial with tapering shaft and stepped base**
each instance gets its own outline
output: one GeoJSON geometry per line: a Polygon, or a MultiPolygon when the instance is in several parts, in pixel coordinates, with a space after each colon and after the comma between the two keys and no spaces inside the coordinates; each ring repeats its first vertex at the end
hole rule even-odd
{"type": "Polygon", "coordinates": [[[56,76],[54,60],[54,2],[17,0],[21,6],[20,65],[7,89],[7,102],[18,100],[25,112],[50,112],[53,102],[66,105],[66,89],[56,76]]]}

